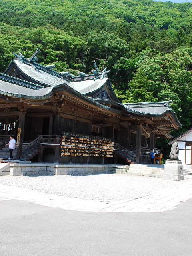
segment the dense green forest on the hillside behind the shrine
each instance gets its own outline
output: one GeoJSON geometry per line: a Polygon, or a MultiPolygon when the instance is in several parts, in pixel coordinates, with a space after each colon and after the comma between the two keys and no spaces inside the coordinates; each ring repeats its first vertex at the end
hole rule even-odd
{"type": "Polygon", "coordinates": [[[172,100],[182,128],[192,127],[192,3],[151,0],[1,0],[0,72],[37,47],[40,64],[110,70],[119,100],[172,100]]]}

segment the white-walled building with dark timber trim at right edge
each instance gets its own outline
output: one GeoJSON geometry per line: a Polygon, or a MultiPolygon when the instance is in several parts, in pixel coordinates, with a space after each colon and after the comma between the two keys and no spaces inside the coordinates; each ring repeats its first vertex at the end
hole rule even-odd
{"type": "Polygon", "coordinates": [[[177,142],[179,146],[179,160],[183,164],[192,164],[192,128],[174,140],[171,140],[168,144],[170,145],[174,142],[177,142]]]}

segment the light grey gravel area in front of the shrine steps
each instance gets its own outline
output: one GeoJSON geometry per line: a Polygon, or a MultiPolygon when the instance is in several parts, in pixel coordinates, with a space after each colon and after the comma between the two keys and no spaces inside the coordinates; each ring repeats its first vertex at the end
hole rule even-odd
{"type": "Polygon", "coordinates": [[[92,200],[126,200],[160,189],[177,186],[181,181],[127,174],[59,175],[59,176],[0,176],[0,184],[92,200]]]}

